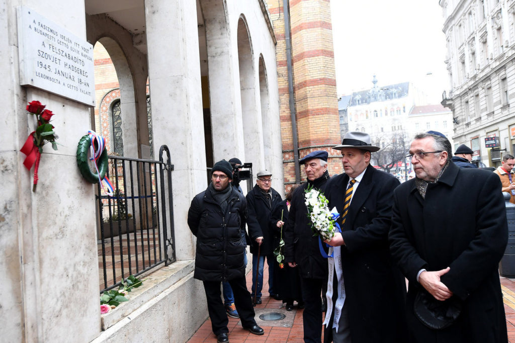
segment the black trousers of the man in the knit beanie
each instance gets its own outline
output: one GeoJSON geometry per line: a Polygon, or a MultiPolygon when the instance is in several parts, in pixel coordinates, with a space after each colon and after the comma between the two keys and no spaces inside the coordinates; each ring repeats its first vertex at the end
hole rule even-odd
{"type": "MultiPolygon", "coordinates": [[[[208,300],[208,312],[211,318],[211,328],[215,335],[222,332],[229,333],[227,324],[229,319],[225,310],[224,303],[221,300],[220,281],[203,281],[205,297],[208,300]]],[[[254,320],[254,306],[250,293],[247,290],[247,282],[245,277],[230,280],[232,291],[234,293],[234,304],[238,311],[239,319],[242,321],[243,328],[250,328],[256,324],[254,320]]]]}

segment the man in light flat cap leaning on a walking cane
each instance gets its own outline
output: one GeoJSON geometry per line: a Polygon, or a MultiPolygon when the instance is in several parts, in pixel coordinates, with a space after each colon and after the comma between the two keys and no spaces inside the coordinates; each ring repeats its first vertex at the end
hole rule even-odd
{"type": "Polygon", "coordinates": [[[261,290],[263,289],[263,268],[268,263],[268,293],[270,297],[277,298],[277,291],[273,289],[273,239],[272,232],[268,226],[270,211],[282,201],[279,193],[272,188],[272,173],[268,170],[258,172],[256,184],[245,197],[249,207],[249,217],[259,223],[263,233],[263,242],[253,243],[250,246],[252,253],[252,299],[256,299],[256,304],[261,304],[261,290]],[[258,259],[259,251],[259,259],[258,259]],[[259,265],[259,266],[258,266],[259,265]],[[256,271],[258,279],[256,280],[256,271]]]}

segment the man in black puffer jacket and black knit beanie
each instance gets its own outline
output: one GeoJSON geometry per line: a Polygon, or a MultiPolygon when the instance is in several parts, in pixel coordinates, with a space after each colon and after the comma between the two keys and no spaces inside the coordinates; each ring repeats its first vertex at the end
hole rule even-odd
{"type": "MultiPolygon", "coordinates": [[[[211,328],[218,342],[228,342],[227,313],[220,298],[220,283],[229,281],[242,327],[255,335],[264,331],[254,320],[254,308],[245,280],[242,230],[247,221],[245,197],[230,184],[232,166],[226,160],[211,170],[208,189],[193,198],[188,211],[188,226],[197,237],[193,277],[204,284],[211,328]]],[[[257,222],[250,219],[249,236],[261,243],[263,235],[257,222]]]]}

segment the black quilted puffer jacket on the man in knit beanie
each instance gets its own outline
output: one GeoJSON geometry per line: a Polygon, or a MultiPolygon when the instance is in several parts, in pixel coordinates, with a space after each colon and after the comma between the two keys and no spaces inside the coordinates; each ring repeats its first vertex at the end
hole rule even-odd
{"type": "MultiPolygon", "coordinates": [[[[188,211],[188,226],[197,237],[195,272],[202,281],[227,281],[245,277],[242,232],[247,222],[247,202],[236,188],[222,212],[209,190],[197,194],[188,211]]],[[[261,236],[257,222],[248,220],[249,236],[261,236]]]]}

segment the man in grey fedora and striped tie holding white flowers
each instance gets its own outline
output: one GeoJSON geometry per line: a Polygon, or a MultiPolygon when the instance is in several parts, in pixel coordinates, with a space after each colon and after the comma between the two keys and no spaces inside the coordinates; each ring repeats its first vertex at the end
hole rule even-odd
{"type": "Polygon", "coordinates": [[[364,132],[347,132],[341,145],[345,173],[327,185],[341,233],[327,243],[328,312],[324,341],[404,342],[406,284],[388,250],[393,190],[399,180],[370,165],[379,147],[364,132]]]}

